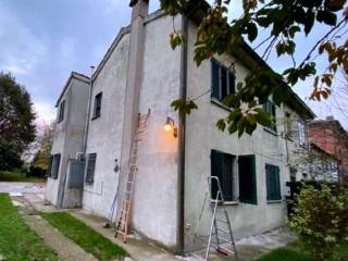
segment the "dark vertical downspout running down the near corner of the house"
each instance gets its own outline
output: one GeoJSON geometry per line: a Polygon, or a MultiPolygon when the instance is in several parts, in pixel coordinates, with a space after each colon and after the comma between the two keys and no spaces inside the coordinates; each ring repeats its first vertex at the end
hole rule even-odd
{"type": "MultiPolygon", "coordinates": [[[[182,15],[182,32],[185,40],[181,48],[181,72],[179,72],[179,99],[186,100],[187,95],[187,36],[188,21],[182,15]]],[[[185,132],[186,115],[178,114],[178,161],[177,161],[177,232],[176,252],[185,254],[185,132]]]]}

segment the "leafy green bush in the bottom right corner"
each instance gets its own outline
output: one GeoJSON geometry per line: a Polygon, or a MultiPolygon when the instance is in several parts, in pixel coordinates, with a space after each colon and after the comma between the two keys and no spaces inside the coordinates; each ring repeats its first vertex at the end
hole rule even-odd
{"type": "Polygon", "coordinates": [[[304,185],[295,198],[295,213],[289,225],[314,261],[335,260],[338,246],[348,241],[347,188],[304,185]]]}

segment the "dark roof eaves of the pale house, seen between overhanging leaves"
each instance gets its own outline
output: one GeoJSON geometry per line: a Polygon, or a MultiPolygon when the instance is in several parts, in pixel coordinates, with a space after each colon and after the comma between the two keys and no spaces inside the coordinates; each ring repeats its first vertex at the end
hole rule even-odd
{"type": "MultiPolygon", "coordinates": [[[[186,15],[194,22],[199,23],[210,8],[210,4],[206,0],[192,1],[192,3],[187,8],[186,15]]],[[[247,42],[244,41],[240,48],[253,60],[253,62],[257,62],[259,65],[263,66],[266,70],[273,71],[273,69],[247,42]]],[[[245,62],[246,57],[243,57],[245,62]]],[[[314,119],[314,112],[294,90],[290,89],[290,91],[291,98],[286,103],[295,111],[300,112],[302,115],[306,115],[308,119],[314,119]]]]}

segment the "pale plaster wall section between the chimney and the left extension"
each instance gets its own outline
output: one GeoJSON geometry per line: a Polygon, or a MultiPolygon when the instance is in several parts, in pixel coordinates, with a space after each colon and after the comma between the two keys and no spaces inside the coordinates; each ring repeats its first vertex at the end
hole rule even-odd
{"type": "Polygon", "coordinates": [[[129,34],[124,35],[94,80],[90,119],[95,96],[102,91],[101,116],[89,120],[87,153],[97,153],[95,182],[85,183],[83,208],[108,216],[117,183],[114,160],[121,158],[124,94],[126,87],[129,34]]]}

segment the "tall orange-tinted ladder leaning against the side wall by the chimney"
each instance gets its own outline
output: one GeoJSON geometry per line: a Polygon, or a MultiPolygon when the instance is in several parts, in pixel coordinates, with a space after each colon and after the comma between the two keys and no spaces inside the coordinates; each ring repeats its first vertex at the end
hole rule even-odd
{"type": "Polygon", "coordinates": [[[144,115],[139,114],[138,127],[135,133],[129,164],[128,164],[128,175],[125,184],[125,195],[122,202],[120,219],[119,219],[119,222],[116,223],[117,225],[116,225],[115,237],[117,237],[117,235],[121,234],[123,236],[124,243],[126,243],[127,240],[129,222],[130,222],[134,182],[135,182],[135,176],[138,172],[138,156],[139,156],[140,142],[144,138],[149,116],[150,116],[150,110],[148,111],[147,114],[144,114],[144,115]]]}

